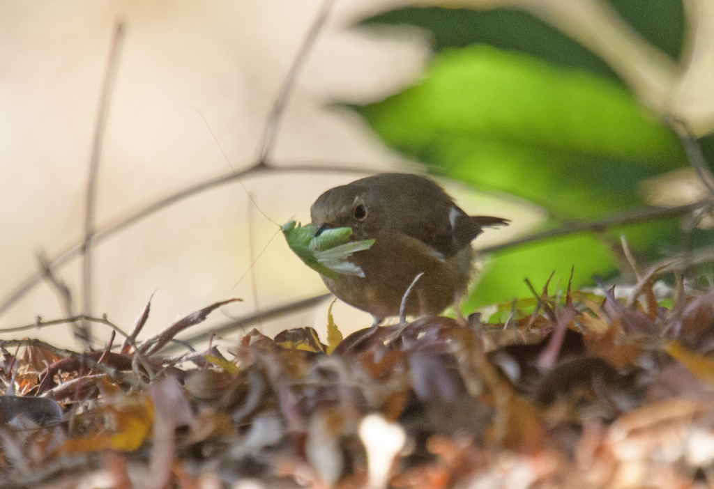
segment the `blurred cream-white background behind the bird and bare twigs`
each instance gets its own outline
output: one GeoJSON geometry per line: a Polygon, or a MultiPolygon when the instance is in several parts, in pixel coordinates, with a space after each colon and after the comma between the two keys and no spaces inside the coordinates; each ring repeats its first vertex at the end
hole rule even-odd
{"type": "MultiPolygon", "coordinates": [[[[351,26],[387,4],[340,0],[333,6],[296,78],[271,163],[418,169],[384,148],[358,116],[329,106],[378,101],[420,76],[429,57],[425,34],[351,26]]],[[[39,271],[38,252],[54,258],[83,239],[92,140],[118,21],[126,32],[99,164],[98,232],[177,190],[256,162],[268,113],[320,6],[318,0],[2,2],[0,301],[39,271]]],[[[282,224],[291,217],[308,222],[321,192],[361,176],[281,173],[248,177],[243,185],[282,224]]],[[[518,212],[511,201],[452,192],[472,212],[518,212]]],[[[522,230],[499,231],[498,240],[522,230]]],[[[268,244],[276,231],[251,210],[246,190],[235,181],[181,200],[95,243],[91,310],[131,330],[156,291],[141,335],[146,337],[177,316],[243,298],[211,314],[188,332],[193,334],[228,316],[253,314],[256,307],[326,292],[281,235],[268,244]],[[236,286],[250,268],[251,238],[253,256],[267,249],[236,286]]],[[[480,241],[492,243],[493,235],[480,241]]],[[[54,272],[73,292],[74,312],[81,312],[81,259],[54,272]]],[[[272,336],[311,325],[322,334],[327,306],[263,324],[263,331],[272,336]]],[[[46,282],[6,309],[0,327],[31,324],[38,315],[64,315],[46,282]]],[[[366,314],[339,303],[335,317],[346,332],[371,324],[366,314]]],[[[95,346],[101,346],[109,329],[93,330],[95,346]]],[[[23,336],[78,347],[68,325],[2,335],[23,336]]]]}

